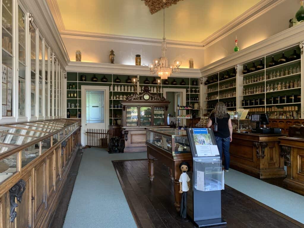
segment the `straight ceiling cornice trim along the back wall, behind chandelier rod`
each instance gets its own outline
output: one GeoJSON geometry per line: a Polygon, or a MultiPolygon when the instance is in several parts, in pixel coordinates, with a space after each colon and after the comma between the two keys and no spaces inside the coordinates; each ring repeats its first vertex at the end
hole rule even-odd
{"type": "MultiPolygon", "coordinates": [[[[163,39],[154,38],[144,38],[137,36],[121,36],[112,35],[105,33],[93,33],[93,32],[83,32],[75,30],[64,30],[60,32],[62,37],[75,38],[75,39],[88,39],[88,40],[104,40],[120,43],[135,43],[135,44],[146,44],[146,45],[156,45],[161,46],[163,39]]],[[[168,47],[183,47],[183,48],[194,48],[194,49],[204,49],[200,42],[190,42],[190,41],[178,41],[178,40],[166,40],[168,47]]]]}

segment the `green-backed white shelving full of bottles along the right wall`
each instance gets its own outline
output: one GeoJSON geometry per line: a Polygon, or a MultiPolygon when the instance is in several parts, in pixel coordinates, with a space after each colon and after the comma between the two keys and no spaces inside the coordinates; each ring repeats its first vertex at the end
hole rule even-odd
{"type": "MultiPolygon", "coordinates": [[[[285,112],[285,110],[282,111],[283,106],[298,106],[297,109],[299,109],[299,110],[296,110],[296,111],[298,111],[299,113],[297,113],[297,114],[301,113],[301,118],[304,118],[304,115],[303,115],[304,114],[304,105],[303,105],[304,104],[304,102],[303,102],[303,95],[304,95],[303,63],[304,63],[304,59],[303,59],[303,54],[300,54],[300,56],[301,56],[300,59],[289,61],[289,62],[286,62],[284,64],[278,64],[278,65],[275,65],[273,67],[268,67],[268,64],[269,64],[272,56],[275,56],[275,60],[278,60],[278,58],[281,57],[282,52],[285,52],[285,56],[288,57],[289,54],[286,55],[286,53],[291,54],[292,50],[294,50],[294,49],[297,49],[297,53],[300,54],[299,45],[292,45],[292,46],[286,47],[282,50],[278,50],[274,53],[270,53],[270,54],[264,55],[260,58],[256,58],[254,60],[248,61],[247,63],[237,64],[236,87],[220,89],[220,83],[225,83],[226,81],[228,82],[230,80],[233,80],[234,78],[229,78],[229,79],[226,79],[226,80],[217,81],[217,82],[209,84],[209,85],[203,85],[203,92],[204,92],[203,93],[203,113],[206,114],[206,113],[211,112],[212,108],[207,107],[207,104],[209,102],[211,104],[215,105],[217,103],[216,101],[225,101],[225,99],[229,99],[229,98],[220,98],[220,94],[223,93],[223,92],[229,91],[230,89],[236,88],[236,106],[234,107],[235,109],[245,108],[245,109],[250,109],[252,112],[267,112],[269,114],[272,114],[274,112],[285,112]],[[257,65],[257,63],[258,64],[260,63],[261,59],[264,63],[264,68],[263,69],[258,70],[258,71],[253,71],[253,72],[250,72],[250,73],[247,73],[247,74],[243,75],[242,71],[243,71],[245,65],[250,65],[252,62],[255,62],[256,65],[257,65]],[[294,69],[294,67],[297,67],[297,66],[300,67],[300,72],[295,73],[293,71],[292,73],[289,73],[290,67],[292,67],[292,69],[294,69]],[[279,71],[279,73],[281,75],[281,71],[283,69],[283,72],[285,74],[286,68],[288,70],[288,75],[284,75],[284,76],[276,77],[276,78],[268,78],[270,72],[273,72],[273,71],[275,71],[275,72],[279,71]],[[258,79],[259,81],[254,81],[254,82],[250,81],[250,83],[244,84],[244,78],[245,79],[247,79],[248,77],[256,77],[257,78],[257,75],[262,76],[261,78],[263,80],[260,80],[260,77],[259,77],[259,79],[258,79]],[[278,82],[281,82],[281,83],[285,82],[286,83],[287,81],[294,80],[294,79],[297,79],[297,80],[300,79],[301,80],[300,87],[297,86],[295,88],[288,88],[288,89],[281,89],[281,90],[267,91],[266,92],[266,88],[267,88],[268,84],[270,85],[270,84],[275,84],[275,83],[278,83],[278,82]],[[208,92],[208,88],[212,88],[214,86],[217,86],[217,90],[208,92]],[[254,88],[254,87],[257,88],[259,86],[261,86],[261,87],[264,86],[264,92],[256,92],[254,94],[247,94],[247,95],[243,94],[243,89],[254,88]],[[293,103],[288,102],[288,101],[287,101],[288,103],[282,103],[282,101],[280,101],[279,104],[269,104],[269,99],[272,95],[275,98],[275,97],[278,97],[278,95],[290,96],[292,93],[294,93],[294,95],[301,96],[301,98],[302,98],[301,102],[299,102],[298,98],[295,97],[293,103]],[[216,96],[216,98],[212,97],[212,99],[206,100],[206,98],[208,96],[212,96],[212,95],[216,96]],[[251,106],[247,106],[246,102],[245,102],[245,106],[242,104],[243,100],[259,99],[259,98],[261,98],[261,100],[264,101],[264,104],[251,105],[251,106]],[[277,109],[275,108],[273,110],[273,106],[276,106],[277,109]]],[[[248,67],[248,69],[249,68],[250,67],[248,67]]],[[[233,69],[233,66],[228,68],[228,70],[229,69],[230,70],[233,69]]],[[[208,75],[207,77],[204,77],[203,83],[206,81],[207,78],[210,80],[210,78],[212,76],[213,77],[217,76],[219,78],[220,74],[225,72],[225,71],[227,71],[227,69],[223,70],[223,71],[220,71],[220,72],[217,72],[215,74],[208,75]]],[[[232,109],[233,107],[227,107],[227,108],[229,110],[229,109],[232,109]]]]}

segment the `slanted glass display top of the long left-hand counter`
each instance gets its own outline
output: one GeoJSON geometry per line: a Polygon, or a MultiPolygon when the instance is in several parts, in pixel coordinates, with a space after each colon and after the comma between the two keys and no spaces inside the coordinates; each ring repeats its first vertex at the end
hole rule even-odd
{"type": "Polygon", "coordinates": [[[0,126],[0,183],[16,172],[18,162],[16,158],[19,152],[21,153],[22,168],[57,143],[58,134],[64,132],[60,131],[61,129],[68,130],[65,131],[65,135],[61,136],[62,138],[79,126],[80,122],[77,120],[66,119],[0,126]],[[37,140],[40,141],[37,142],[37,140]],[[12,154],[12,150],[16,152],[12,154]],[[6,153],[8,156],[5,156],[6,153]]]}

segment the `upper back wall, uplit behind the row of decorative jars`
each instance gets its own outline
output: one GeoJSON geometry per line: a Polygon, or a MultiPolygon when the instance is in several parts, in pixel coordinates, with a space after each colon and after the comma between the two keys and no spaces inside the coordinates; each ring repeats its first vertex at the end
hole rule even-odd
{"type": "MultiPolygon", "coordinates": [[[[62,36],[71,61],[75,61],[76,50],[81,50],[82,62],[110,63],[110,50],[114,50],[116,64],[135,65],[135,55],[141,55],[141,64],[149,65],[153,59],[161,57],[160,45],[123,43],[97,39],[82,39],[62,36]]],[[[168,47],[169,64],[182,61],[182,68],[189,67],[189,59],[194,59],[194,68],[204,66],[204,50],[198,48],[168,47]]]]}

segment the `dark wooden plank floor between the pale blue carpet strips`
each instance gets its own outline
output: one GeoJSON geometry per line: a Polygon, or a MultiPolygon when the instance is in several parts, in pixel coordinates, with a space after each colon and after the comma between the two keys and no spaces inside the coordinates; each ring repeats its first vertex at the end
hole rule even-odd
{"type": "MultiPolygon", "coordinates": [[[[173,182],[168,168],[155,161],[155,178],[148,178],[147,160],[113,161],[123,192],[136,224],[140,228],[189,228],[191,222],[176,220],[173,182]]],[[[189,173],[191,177],[192,174],[189,173]]],[[[190,202],[191,203],[191,202],[190,202]]],[[[299,228],[294,223],[260,206],[248,196],[225,187],[222,191],[222,216],[226,226],[218,228],[299,228]]]]}

